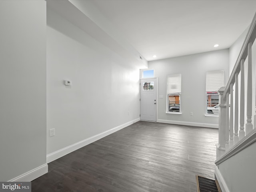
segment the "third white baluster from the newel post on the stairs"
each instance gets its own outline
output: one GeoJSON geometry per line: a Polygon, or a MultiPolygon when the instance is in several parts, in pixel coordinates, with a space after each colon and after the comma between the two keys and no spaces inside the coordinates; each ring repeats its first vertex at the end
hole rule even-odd
{"type": "Polygon", "coordinates": [[[236,73],[236,85],[235,85],[235,116],[234,116],[234,144],[239,140],[238,138],[238,73],[236,73]]]}

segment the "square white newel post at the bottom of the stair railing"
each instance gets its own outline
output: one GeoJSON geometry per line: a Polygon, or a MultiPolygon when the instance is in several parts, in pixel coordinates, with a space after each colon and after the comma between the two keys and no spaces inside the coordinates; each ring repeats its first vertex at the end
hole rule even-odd
{"type": "Polygon", "coordinates": [[[218,90],[219,95],[219,143],[217,147],[217,159],[220,158],[226,150],[226,98],[223,96],[225,87],[218,90]]]}

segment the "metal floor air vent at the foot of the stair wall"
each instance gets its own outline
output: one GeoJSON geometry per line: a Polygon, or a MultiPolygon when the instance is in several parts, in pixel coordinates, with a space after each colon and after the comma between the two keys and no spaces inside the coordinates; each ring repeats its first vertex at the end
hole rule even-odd
{"type": "Polygon", "coordinates": [[[218,181],[196,175],[197,192],[221,192],[218,181]]]}

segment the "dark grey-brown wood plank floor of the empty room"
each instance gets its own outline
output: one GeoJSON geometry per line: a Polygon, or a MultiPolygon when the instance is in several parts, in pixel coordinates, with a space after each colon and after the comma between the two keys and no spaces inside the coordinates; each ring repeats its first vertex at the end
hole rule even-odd
{"type": "Polygon", "coordinates": [[[32,192],[196,192],[217,142],[217,129],[140,121],[49,163],[32,192]]]}

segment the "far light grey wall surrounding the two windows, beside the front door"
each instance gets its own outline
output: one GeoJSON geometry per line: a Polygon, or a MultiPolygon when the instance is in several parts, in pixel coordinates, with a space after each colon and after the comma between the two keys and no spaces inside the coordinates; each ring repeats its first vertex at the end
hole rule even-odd
{"type": "Polygon", "coordinates": [[[206,72],[225,70],[225,83],[229,72],[229,51],[218,50],[164,60],[148,62],[158,77],[158,121],[174,124],[218,127],[218,118],[206,114],[206,72]],[[182,74],[182,114],[166,114],[166,76],[182,74]],[[163,98],[159,98],[163,96],[163,98]],[[190,116],[193,112],[193,116],[190,116]]]}

